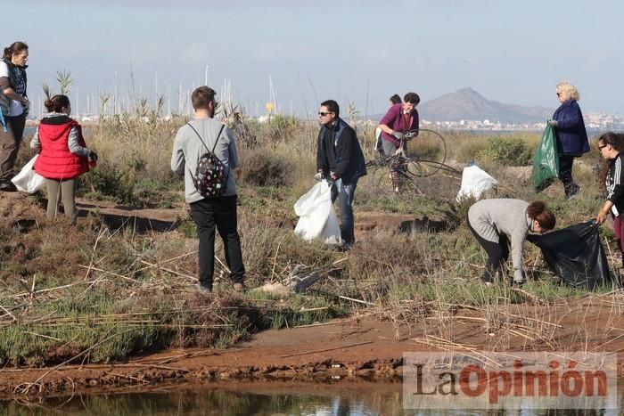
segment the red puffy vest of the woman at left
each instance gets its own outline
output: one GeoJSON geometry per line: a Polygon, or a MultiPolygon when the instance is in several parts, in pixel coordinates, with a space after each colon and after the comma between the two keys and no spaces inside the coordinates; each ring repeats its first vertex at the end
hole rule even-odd
{"type": "Polygon", "coordinates": [[[51,119],[53,118],[44,118],[39,124],[41,152],[34,167],[37,174],[46,179],[72,179],[88,172],[88,157],[71,153],[68,146],[71,127],[76,127],[78,144],[86,147],[82,127],[69,117],[62,119],[62,124],[50,124],[51,119]]]}

